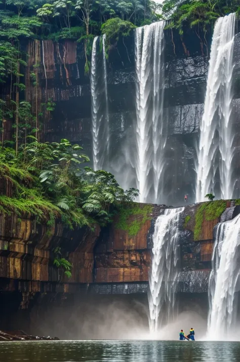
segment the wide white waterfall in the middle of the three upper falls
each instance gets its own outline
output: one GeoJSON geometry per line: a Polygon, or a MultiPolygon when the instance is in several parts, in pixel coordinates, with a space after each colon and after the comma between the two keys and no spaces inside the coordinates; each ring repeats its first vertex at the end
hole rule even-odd
{"type": "Polygon", "coordinates": [[[140,202],[161,198],[164,148],[164,21],[135,31],[136,149],[135,169],[140,202]]]}

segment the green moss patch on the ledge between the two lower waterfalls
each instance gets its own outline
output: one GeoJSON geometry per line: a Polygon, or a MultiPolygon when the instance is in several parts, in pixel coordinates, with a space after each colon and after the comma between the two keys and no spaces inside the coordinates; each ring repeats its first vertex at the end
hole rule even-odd
{"type": "Polygon", "coordinates": [[[201,237],[204,218],[207,221],[215,220],[225,209],[226,201],[224,200],[209,201],[199,205],[195,214],[194,240],[199,240],[201,237]]]}

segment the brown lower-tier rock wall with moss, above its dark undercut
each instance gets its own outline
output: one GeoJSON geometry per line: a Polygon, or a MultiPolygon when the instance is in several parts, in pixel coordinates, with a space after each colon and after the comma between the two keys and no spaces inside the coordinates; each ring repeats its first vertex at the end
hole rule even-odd
{"type": "MultiPolygon", "coordinates": [[[[230,210],[230,206],[235,214],[239,212],[234,202],[223,200],[185,207],[180,220],[180,279],[184,285],[180,285],[179,290],[188,291],[189,278],[193,284],[196,279],[196,285],[191,285],[195,289],[197,279],[207,282],[214,226],[225,217],[224,211],[230,210]]],[[[109,227],[102,230],[96,227],[95,231],[88,228],[69,231],[60,223],[49,228],[31,219],[2,215],[1,291],[18,290],[25,296],[43,292],[74,293],[82,287],[90,287],[94,293],[146,291],[154,223],[165,208],[164,205],[134,204],[121,210],[109,227]],[[60,247],[62,256],[72,264],[69,279],[53,265],[56,247],[60,247]]],[[[228,218],[231,217],[232,212],[228,218]]],[[[198,292],[207,291],[206,288],[204,284],[198,292]]]]}

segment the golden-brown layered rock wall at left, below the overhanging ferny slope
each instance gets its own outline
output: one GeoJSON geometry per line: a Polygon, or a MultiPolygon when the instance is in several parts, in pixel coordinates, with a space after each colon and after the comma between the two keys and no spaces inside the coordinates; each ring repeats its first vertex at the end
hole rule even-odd
{"type": "MultiPolygon", "coordinates": [[[[0,215],[0,278],[40,282],[89,283],[93,281],[93,248],[100,229],[70,232],[56,223],[36,225],[34,220],[17,215],[0,215]],[[72,263],[72,277],[58,274],[53,265],[53,250],[61,247],[72,263]]],[[[36,288],[35,284],[34,289],[36,288]]],[[[40,287],[40,286],[39,286],[40,287]]],[[[40,289],[39,289],[40,291],[40,289]]]]}

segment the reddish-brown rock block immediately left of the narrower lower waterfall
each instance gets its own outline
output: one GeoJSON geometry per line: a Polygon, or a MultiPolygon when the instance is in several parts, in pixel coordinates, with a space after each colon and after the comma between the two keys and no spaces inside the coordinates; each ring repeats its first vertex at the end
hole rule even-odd
{"type": "Polygon", "coordinates": [[[135,211],[125,221],[129,226],[132,223],[140,225],[135,235],[131,235],[130,230],[120,229],[119,215],[115,216],[110,228],[100,234],[95,248],[95,282],[148,281],[151,257],[147,237],[153,206],[138,204],[138,207],[139,213],[135,211]],[[143,208],[147,212],[146,220],[143,220],[143,208]]]}

